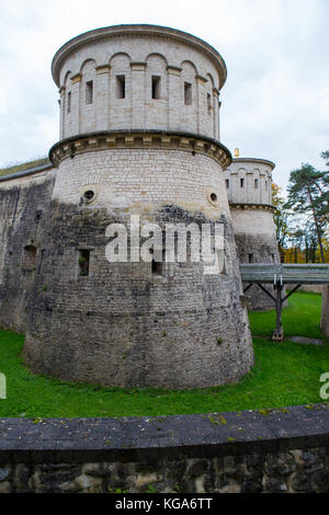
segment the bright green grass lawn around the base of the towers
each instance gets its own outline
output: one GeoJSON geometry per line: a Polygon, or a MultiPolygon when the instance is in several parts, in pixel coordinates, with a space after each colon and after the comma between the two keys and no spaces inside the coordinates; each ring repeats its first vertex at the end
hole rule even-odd
{"type": "MultiPolygon", "coordinates": [[[[285,335],[322,337],[321,297],[294,294],[283,312],[285,335]]],[[[250,313],[253,334],[269,336],[275,312],[250,313]]],[[[63,382],[31,374],[19,357],[24,336],[0,331],[0,373],[7,376],[8,399],[0,416],[75,417],[141,416],[270,409],[322,402],[319,377],[329,371],[329,342],[303,345],[254,337],[256,366],[236,385],[204,390],[120,389],[63,382]]]]}

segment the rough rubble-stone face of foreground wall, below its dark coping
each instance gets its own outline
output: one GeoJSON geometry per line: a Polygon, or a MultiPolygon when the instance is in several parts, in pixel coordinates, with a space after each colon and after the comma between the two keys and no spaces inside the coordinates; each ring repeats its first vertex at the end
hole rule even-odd
{"type": "Polygon", "coordinates": [[[152,462],[3,464],[0,493],[328,493],[326,447],[152,462]]]}

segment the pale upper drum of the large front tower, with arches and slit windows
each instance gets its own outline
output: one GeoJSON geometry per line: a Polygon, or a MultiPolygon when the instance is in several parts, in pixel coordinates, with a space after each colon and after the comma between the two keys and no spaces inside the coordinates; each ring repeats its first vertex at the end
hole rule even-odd
{"type": "MultiPolygon", "coordinates": [[[[196,38],[195,38],[196,39],[196,38]]],[[[219,139],[218,69],[197,45],[170,34],[111,34],[67,56],[60,69],[60,138],[95,130],[163,129],[219,139]],[[152,98],[152,77],[157,95],[152,98]],[[118,91],[124,80],[124,98],[118,91]],[[92,85],[90,85],[92,83],[92,85]],[[89,85],[88,85],[89,84],[89,85]],[[185,99],[189,84],[189,99],[185,99]],[[92,88],[92,98],[87,90],[92,88]]]]}

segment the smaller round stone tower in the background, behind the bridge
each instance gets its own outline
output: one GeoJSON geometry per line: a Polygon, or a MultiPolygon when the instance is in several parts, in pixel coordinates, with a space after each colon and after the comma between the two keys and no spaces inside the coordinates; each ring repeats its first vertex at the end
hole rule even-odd
{"type": "MultiPolygon", "coordinates": [[[[238,152],[237,152],[238,154],[238,152]]],[[[241,263],[280,263],[272,206],[272,171],[265,159],[239,158],[225,171],[226,188],[241,263]]],[[[266,294],[253,286],[246,294],[253,309],[273,308],[266,294]]]]}

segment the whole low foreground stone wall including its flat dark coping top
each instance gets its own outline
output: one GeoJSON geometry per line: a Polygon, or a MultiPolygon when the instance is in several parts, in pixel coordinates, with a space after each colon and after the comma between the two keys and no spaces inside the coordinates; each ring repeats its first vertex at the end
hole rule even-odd
{"type": "Polygon", "coordinates": [[[329,404],[0,420],[0,493],[328,492],[329,404]]]}

